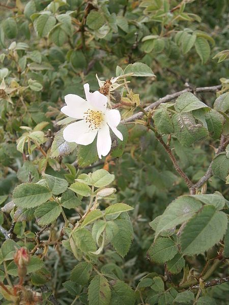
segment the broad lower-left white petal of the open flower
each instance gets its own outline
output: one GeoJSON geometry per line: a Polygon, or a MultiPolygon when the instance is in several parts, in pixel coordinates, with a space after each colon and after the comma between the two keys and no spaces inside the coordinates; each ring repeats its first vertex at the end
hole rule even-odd
{"type": "Polygon", "coordinates": [[[76,142],[81,145],[91,144],[97,134],[98,130],[89,128],[89,123],[84,119],[68,125],[63,132],[65,141],[76,142]]]}

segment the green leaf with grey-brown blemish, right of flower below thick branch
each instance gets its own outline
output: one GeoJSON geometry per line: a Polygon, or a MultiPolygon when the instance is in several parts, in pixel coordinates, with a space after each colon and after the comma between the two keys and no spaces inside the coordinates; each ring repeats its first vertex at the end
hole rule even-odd
{"type": "Polygon", "coordinates": [[[194,142],[208,136],[208,130],[195,123],[191,113],[178,113],[172,116],[175,135],[184,146],[190,146],[194,142]]]}

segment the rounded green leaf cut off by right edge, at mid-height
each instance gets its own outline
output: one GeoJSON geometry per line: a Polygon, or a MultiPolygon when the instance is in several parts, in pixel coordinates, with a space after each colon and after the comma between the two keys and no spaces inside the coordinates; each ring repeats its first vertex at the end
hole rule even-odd
{"type": "Polygon", "coordinates": [[[212,163],[212,172],[215,176],[222,180],[226,180],[229,173],[229,159],[225,153],[218,155],[212,163]]]}

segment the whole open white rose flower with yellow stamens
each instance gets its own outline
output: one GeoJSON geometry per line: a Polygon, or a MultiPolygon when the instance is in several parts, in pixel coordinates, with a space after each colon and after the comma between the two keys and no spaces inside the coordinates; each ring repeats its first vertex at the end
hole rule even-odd
{"type": "Polygon", "coordinates": [[[99,158],[106,156],[111,148],[109,127],[112,132],[123,141],[122,133],[117,129],[121,115],[117,109],[107,108],[107,97],[100,92],[93,93],[89,90],[89,84],[84,84],[84,92],[87,100],[74,94],[65,96],[67,106],[61,111],[73,118],[80,119],[68,125],[63,132],[67,142],[75,142],[81,145],[91,144],[97,136],[97,151],[99,158]]]}

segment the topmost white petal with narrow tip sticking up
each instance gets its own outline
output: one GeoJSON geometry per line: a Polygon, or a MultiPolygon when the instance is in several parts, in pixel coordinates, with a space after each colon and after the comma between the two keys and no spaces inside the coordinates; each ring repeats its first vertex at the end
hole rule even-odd
{"type": "Polygon", "coordinates": [[[84,91],[87,101],[93,106],[95,110],[106,110],[107,97],[98,91],[90,92],[89,84],[84,84],[84,91]]]}

